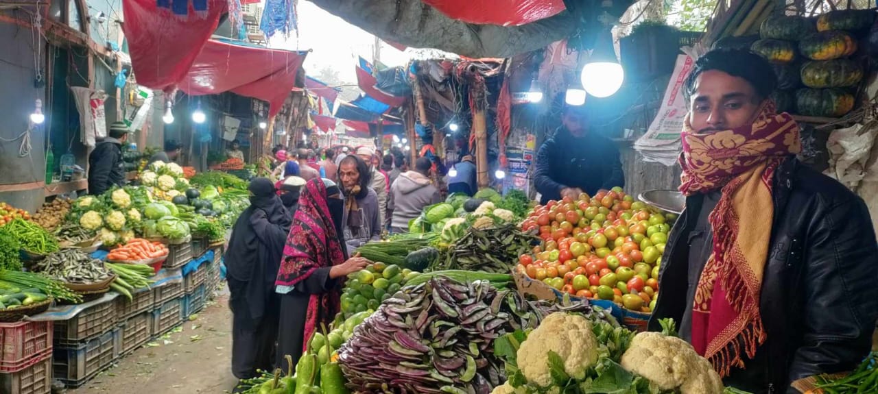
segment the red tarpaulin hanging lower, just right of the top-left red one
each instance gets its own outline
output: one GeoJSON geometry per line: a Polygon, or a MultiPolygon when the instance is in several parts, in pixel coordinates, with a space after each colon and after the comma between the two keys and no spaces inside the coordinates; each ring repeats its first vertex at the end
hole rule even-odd
{"type": "Polygon", "coordinates": [[[269,116],[274,116],[295,85],[305,56],[305,52],[211,39],[178,86],[192,96],[231,91],[265,100],[271,104],[269,116]]]}

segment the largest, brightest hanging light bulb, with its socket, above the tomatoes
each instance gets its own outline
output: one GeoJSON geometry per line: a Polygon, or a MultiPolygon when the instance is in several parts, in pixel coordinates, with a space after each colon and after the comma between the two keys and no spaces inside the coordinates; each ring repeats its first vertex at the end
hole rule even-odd
{"type": "Polygon", "coordinates": [[[609,29],[604,29],[594,39],[594,51],[579,79],[588,94],[594,97],[610,97],[622,87],[625,71],[615,57],[613,34],[609,29]]]}

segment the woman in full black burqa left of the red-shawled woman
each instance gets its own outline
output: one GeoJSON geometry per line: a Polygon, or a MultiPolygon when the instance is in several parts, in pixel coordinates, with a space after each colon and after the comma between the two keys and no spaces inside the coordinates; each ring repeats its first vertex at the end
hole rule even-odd
{"type": "Polygon", "coordinates": [[[225,255],[232,309],[232,372],[239,379],[271,370],[277,341],[279,297],[274,291],[292,215],[270,180],[248,187],[250,206],[234,223],[225,255]]]}

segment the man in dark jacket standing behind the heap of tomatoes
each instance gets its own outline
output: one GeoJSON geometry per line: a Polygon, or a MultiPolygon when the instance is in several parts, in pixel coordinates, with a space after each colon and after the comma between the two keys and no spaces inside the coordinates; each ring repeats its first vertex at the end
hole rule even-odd
{"type": "Polygon", "coordinates": [[[536,154],[534,185],[540,204],[563,197],[576,199],[598,190],[625,185],[619,149],[612,140],[588,130],[578,107],[565,106],[563,125],[545,140],[536,154]]]}

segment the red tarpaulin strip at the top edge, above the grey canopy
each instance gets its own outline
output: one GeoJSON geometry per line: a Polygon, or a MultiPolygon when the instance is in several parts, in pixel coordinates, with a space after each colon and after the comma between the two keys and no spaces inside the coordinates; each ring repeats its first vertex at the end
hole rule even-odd
{"type": "Polygon", "coordinates": [[[526,25],[564,11],[564,0],[421,0],[449,18],[478,25],[526,25]]]}

